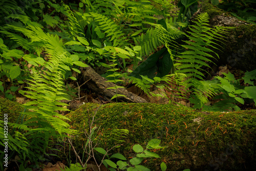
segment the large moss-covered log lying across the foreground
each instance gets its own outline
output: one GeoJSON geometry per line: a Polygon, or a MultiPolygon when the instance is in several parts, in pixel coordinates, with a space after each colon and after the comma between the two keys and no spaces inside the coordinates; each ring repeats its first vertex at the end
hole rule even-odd
{"type": "MultiPolygon", "coordinates": [[[[88,111],[92,120],[99,106],[87,103],[66,115],[72,127],[79,130],[73,140],[77,151],[87,141],[84,127],[88,129],[88,111]]],[[[99,128],[98,147],[110,149],[122,143],[111,153],[126,158],[135,156],[133,145],[141,144],[145,149],[148,141],[160,139],[161,146],[168,146],[156,152],[161,158],[143,160],[151,170],[160,170],[162,161],[167,170],[245,170],[256,166],[255,114],[256,110],[201,113],[169,104],[109,103],[100,106],[93,126],[99,128]],[[112,132],[115,129],[127,129],[129,136],[117,137],[112,132]]]]}

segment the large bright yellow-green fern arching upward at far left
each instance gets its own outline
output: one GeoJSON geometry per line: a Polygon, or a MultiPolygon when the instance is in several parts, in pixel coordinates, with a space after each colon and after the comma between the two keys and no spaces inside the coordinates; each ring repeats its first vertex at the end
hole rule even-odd
{"type": "Polygon", "coordinates": [[[86,67],[86,65],[78,61],[78,56],[73,55],[71,58],[70,53],[63,48],[62,40],[58,36],[46,34],[39,27],[7,25],[5,29],[3,33],[16,40],[21,46],[28,47],[30,52],[36,51],[38,55],[37,58],[34,58],[32,54],[24,55],[24,59],[34,65],[30,68],[31,79],[27,82],[29,87],[26,87],[28,90],[19,91],[19,93],[32,99],[24,104],[30,112],[22,113],[27,115],[28,119],[21,124],[12,124],[14,129],[24,132],[23,141],[30,145],[15,144],[15,139],[11,141],[13,143],[12,149],[20,152],[24,161],[28,157],[30,161],[36,162],[34,159],[38,159],[46,152],[50,137],[59,138],[65,133],[74,134],[69,129],[69,124],[65,122],[67,118],[58,113],[58,111],[68,111],[68,109],[62,108],[67,104],[60,102],[61,100],[68,100],[67,97],[69,97],[63,80],[67,71],[70,71],[70,67],[74,64],[81,67],[86,67]],[[17,36],[9,31],[22,32],[24,33],[23,37],[27,38],[17,36]],[[21,42],[20,39],[26,41],[21,42]],[[42,50],[47,54],[48,61],[40,57],[42,50]],[[39,65],[40,67],[38,67],[39,65]],[[29,148],[29,153],[26,152],[27,148],[29,148]]]}

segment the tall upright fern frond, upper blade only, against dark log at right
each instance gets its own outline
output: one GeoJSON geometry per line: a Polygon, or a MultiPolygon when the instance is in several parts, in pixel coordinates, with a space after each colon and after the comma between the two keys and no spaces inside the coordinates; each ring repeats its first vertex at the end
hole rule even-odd
{"type": "Polygon", "coordinates": [[[196,25],[189,27],[189,35],[186,35],[189,40],[184,41],[186,45],[181,45],[187,51],[180,53],[179,57],[181,60],[177,61],[180,63],[177,66],[177,72],[186,73],[200,80],[204,77],[202,71],[206,72],[202,67],[209,67],[206,62],[212,62],[211,58],[215,58],[208,52],[214,53],[219,57],[217,53],[208,47],[218,49],[216,47],[218,44],[214,40],[217,40],[217,36],[219,35],[217,31],[221,30],[221,28],[219,30],[213,30],[207,27],[208,18],[207,13],[199,14],[197,21],[194,22],[196,25]]]}

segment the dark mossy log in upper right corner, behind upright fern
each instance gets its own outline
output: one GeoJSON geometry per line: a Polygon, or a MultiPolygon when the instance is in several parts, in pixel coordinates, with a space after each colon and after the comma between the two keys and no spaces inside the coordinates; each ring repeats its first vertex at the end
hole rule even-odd
{"type": "Polygon", "coordinates": [[[222,48],[212,49],[219,55],[215,63],[218,66],[229,65],[242,71],[254,70],[256,66],[256,25],[240,20],[209,2],[204,2],[200,6],[200,10],[191,20],[194,20],[198,14],[207,12],[210,16],[208,23],[210,27],[232,27],[225,37],[220,39],[224,44],[217,42],[222,48]]]}

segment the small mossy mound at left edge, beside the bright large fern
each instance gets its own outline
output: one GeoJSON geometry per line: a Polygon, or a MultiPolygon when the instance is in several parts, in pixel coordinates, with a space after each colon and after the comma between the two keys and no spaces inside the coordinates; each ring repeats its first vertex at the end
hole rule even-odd
{"type": "Polygon", "coordinates": [[[24,108],[17,102],[10,101],[9,99],[0,98],[0,119],[3,120],[4,114],[8,114],[8,122],[16,123],[20,112],[24,108]]]}

